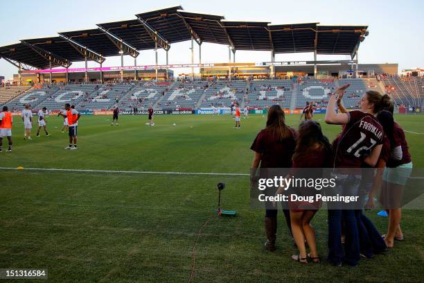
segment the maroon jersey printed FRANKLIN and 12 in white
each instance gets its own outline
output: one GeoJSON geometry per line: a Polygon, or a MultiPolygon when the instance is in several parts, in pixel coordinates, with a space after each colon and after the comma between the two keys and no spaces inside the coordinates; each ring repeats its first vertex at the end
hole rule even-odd
{"type": "Polygon", "coordinates": [[[348,112],[349,121],[334,151],[335,168],[360,168],[362,155],[382,144],[384,132],[376,117],[360,110],[348,112]]]}

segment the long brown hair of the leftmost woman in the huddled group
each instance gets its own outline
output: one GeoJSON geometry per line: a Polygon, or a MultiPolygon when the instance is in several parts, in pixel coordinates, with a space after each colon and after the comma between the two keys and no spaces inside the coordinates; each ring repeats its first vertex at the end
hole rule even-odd
{"type": "Polygon", "coordinates": [[[280,105],[272,105],[268,110],[267,130],[279,141],[293,137],[292,130],[285,124],[284,111],[280,105]]]}

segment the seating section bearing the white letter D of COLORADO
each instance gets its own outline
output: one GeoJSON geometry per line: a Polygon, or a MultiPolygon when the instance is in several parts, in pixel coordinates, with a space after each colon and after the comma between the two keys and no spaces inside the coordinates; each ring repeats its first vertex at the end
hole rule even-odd
{"type": "Polygon", "coordinates": [[[282,108],[289,108],[292,84],[292,80],[254,80],[249,86],[245,105],[250,108],[268,108],[279,104],[282,108]]]}

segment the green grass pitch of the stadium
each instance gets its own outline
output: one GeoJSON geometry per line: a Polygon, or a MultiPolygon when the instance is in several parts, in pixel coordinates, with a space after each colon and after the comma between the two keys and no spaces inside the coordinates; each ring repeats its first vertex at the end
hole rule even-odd
{"type": "MultiPolygon", "coordinates": [[[[12,153],[0,154],[2,167],[249,173],[250,146],[265,126],[263,115],[233,128],[227,115],[83,116],[78,150],[67,151],[62,119],[47,117],[46,137],[23,140],[15,117],[12,153]],[[173,126],[176,123],[176,126],[173,126]]],[[[315,119],[323,119],[316,115],[315,119]]],[[[405,130],[424,132],[423,116],[396,115],[405,130]]],[[[298,115],[288,123],[299,124],[298,115]]],[[[321,122],[333,139],[341,130],[321,122]]],[[[33,130],[33,136],[35,134],[33,130]]],[[[414,167],[424,165],[424,135],[407,133],[414,167]]],[[[356,268],[326,263],[303,266],[279,214],[277,250],[263,249],[262,210],[249,207],[245,175],[164,175],[0,169],[0,268],[48,268],[49,282],[186,282],[199,238],[194,282],[423,282],[424,212],[403,213],[405,241],[386,255],[360,261],[356,268]],[[223,209],[238,216],[215,216],[225,182],[223,209]]],[[[321,258],[326,255],[326,211],[313,219],[321,258]]],[[[387,218],[366,212],[380,232],[387,218]]],[[[17,281],[18,282],[18,281],[17,281]]],[[[40,281],[44,282],[44,281],[40,281]]]]}

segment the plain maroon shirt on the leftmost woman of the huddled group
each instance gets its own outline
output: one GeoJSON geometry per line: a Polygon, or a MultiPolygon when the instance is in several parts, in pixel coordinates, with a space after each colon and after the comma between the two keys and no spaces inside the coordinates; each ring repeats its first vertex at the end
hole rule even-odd
{"type": "Polygon", "coordinates": [[[260,167],[262,168],[290,168],[292,156],[296,147],[297,132],[290,128],[292,137],[279,141],[272,133],[261,130],[250,149],[260,153],[260,167]]]}

